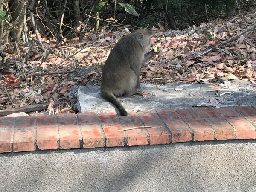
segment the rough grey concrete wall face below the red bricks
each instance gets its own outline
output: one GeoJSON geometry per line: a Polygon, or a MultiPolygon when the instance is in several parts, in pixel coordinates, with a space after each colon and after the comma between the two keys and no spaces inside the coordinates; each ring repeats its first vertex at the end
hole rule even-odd
{"type": "Polygon", "coordinates": [[[0,154],[0,192],[255,192],[255,140],[0,154]]]}

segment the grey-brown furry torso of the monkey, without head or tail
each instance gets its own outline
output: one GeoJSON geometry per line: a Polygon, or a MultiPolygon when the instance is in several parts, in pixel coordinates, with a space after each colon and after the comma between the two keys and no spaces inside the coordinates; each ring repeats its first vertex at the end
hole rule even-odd
{"type": "Polygon", "coordinates": [[[136,33],[122,37],[110,52],[103,67],[101,91],[108,91],[116,96],[132,92],[137,84],[135,73],[140,71],[144,52],[136,39],[136,33]]]}

